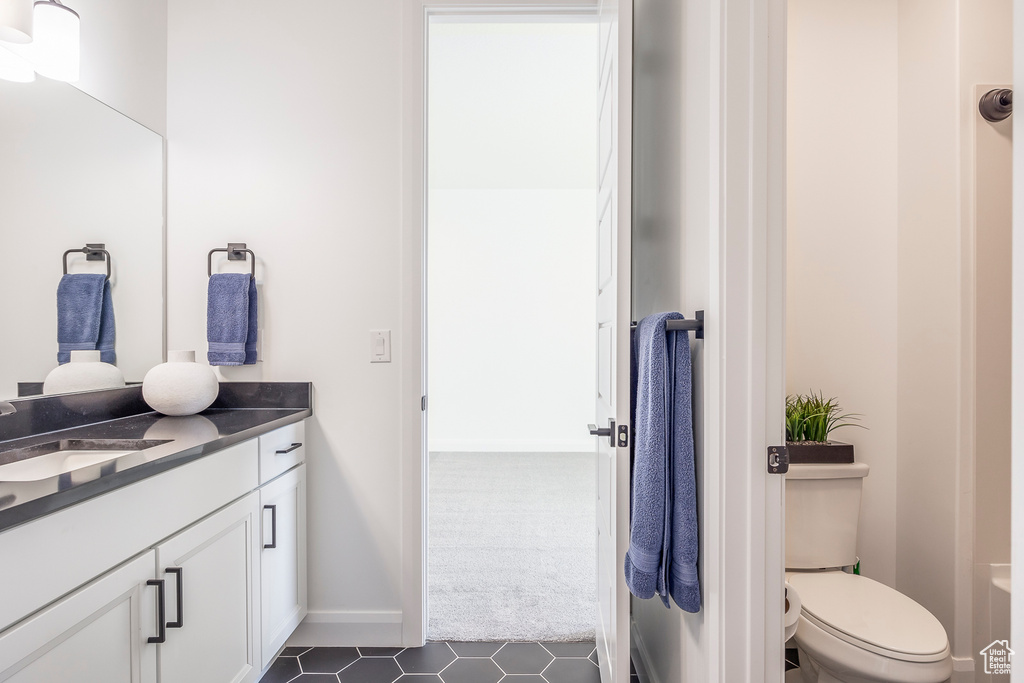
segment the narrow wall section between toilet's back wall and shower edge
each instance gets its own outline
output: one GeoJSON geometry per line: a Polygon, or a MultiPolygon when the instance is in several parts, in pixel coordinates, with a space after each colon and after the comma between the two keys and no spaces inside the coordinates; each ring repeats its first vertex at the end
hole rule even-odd
{"type": "Polygon", "coordinates": [[[896,588],[952,637],[963,317],[956,4],[901,0],[899,7],[896,588]],[[925,116],[908,105],[926,99],[935,104],[925,116]]]}

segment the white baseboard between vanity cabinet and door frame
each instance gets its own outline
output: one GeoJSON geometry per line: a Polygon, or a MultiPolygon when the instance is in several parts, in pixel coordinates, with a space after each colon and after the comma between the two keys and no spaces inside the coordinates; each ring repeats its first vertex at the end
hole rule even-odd
{"type": "Polygon", "coordinates": [[[401,611],[310,611],[288,645],[400,647],[401,611]]]}

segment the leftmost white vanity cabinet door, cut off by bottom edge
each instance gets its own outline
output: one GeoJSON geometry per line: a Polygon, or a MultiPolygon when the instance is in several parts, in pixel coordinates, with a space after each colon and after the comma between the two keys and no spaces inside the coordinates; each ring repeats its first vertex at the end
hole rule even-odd
{"type": "Polygon", "coordinates": [[[86,584],[0,634],[0,681],[155,683],[155,553],[86,584]]]}

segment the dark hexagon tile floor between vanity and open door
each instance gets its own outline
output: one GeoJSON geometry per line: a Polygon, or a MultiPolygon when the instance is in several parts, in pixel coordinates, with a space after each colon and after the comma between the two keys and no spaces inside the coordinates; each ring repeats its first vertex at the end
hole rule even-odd
{"type": "Polygon", "coordinates": [[[600,675],[593,642],[427,643],[286,647],[261,683],[600,683],[600,675]]]}

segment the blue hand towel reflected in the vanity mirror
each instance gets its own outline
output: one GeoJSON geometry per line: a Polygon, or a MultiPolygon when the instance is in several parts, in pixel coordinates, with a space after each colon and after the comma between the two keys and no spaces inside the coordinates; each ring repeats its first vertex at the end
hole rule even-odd
{"type": "Polygon", "coordinates": [[[71,360],[72,351],[99,351],[101,361],[114,365],[114,300],[106,275],[62,276],[57,284],[57,362],[71,360]]]}

